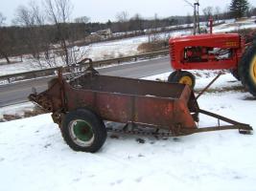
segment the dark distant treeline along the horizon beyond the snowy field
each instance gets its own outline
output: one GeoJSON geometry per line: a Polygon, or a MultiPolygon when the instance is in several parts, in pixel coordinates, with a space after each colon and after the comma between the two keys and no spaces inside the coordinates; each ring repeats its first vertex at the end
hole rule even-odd
{"type": "MultiPolygon", "coordinates": [[[[230,18],[228,14],[220,14],[219,19],[230,18]]],[[[205,21],[204,16],[200,16],[201,21],[205,21]]],[[[147,29],[165,28],[175,25],[190,24],[193,17],[172,16],[160,19],[143,19],[139,16],[130,18],[128,21],[106,23],[61,23],[61,35],[56,24],[54,25],[32,25],[32,26],[12,26],[0,28],[0,49],[4,57],[32,53],[34,57],[51,45],[58,44],[63,37],[68,42],[76,42],[89,36],[92,32],[110,29],[111,32],[140,32],[147,29]]]]}

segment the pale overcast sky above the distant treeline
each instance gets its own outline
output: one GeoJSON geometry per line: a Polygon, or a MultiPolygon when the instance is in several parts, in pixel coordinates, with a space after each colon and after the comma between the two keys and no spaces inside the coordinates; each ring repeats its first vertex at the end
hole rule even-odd
{"type": "MultiPolygon", "coordinates": [[[[40,3],[41,0],[34,0],[40,3]]],[[[91,21],[105,22],[116,20],[120,11],[128,11],[129,17],[139,13],[142,17],[168,17],[172,15],[193,14],[193,9],[183,0],[70,0],[73,4],[72,17],[88,16],[91,21]]],[[[193,2],[193,0],[188,0],[193,2]]],[[[28,5],[31,0],[0,0],[0,12],[7,17],[6,23],[11,23],[15,10],[19,5],[28,5]]],[[[207,6],[219,6],[225,10],[231,0],[199,0],[200,11],[207,6]]],[[[248,0],[256,7],[256,0],[248,0]]]]}

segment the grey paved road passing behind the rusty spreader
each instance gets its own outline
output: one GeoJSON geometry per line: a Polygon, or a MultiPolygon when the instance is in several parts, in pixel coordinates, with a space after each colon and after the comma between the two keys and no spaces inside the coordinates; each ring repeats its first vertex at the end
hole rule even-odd
{"type": "MultiPolygon", "coordinates": [[[[100,74],[140,78],[169,72],[171,71],[171,67],[169,57],[164,57],[113,66],[99,69],[98,71],[100,74]]],[[[26,101],[27,96],[32,92],[32,87],[35,87],[37,92],[46,90],[47,82],[50,78],[44,77],[0,86],[0,107],[26,101]]]]}

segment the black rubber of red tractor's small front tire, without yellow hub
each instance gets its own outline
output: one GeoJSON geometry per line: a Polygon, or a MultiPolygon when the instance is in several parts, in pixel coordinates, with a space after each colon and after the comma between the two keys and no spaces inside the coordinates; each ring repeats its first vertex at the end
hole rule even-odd
{"type": "Polygon", "coordinates": [[[169,75],[170,79],[168,78],[168,82],[179,83],[182,77],[189,77],[192,83],[191,85],[190,84],[187,84],[187,85],[190,85],[190,87],[194,89],[196,85],[196,77],[194,74],[191,74],[187,71],[175,71],[174,73],[169,75]]]}

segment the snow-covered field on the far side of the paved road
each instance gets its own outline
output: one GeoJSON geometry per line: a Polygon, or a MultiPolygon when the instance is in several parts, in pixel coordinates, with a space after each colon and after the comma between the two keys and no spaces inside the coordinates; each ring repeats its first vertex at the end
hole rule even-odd
{"type": "MultiPolygon", "coordinates": [[[[227,20],[225,24],[221,24],[214,28],[214,32],[232,32],[243,29],[254,29],[256,24],[254,22],[256,18],[245,19],[243,21],[235,22],[234,20],[227,20]]],[[[191,34],[191,30],[182,30],[178,32],[165,32],[157,34],[158,39],[169,39],[179,35],[191,34]]],[[[102,60],[109,58],[117,58],[128,55],[134,55],[140,53],[138,51],[139,45],[149,41],[149,35],[137,36],[122,40],[114,40],[108,42],[94,43],[90,46],[75,47],[78,57],[90,57],[93,60],[102,60]]],[[[23,62],[20,62],[19,57],[11,58],[16,63],[3,65],[4,59],[0,59],[0,75],[23,73],[28,71],[40,70],[41,66],[36,63],[35,60],[27,56],[23,57],[23,62]],[[2,63],[2,64],[1,64],[2,63]]],[[[56,66],[63,65],[63,61],[60,57],[55,58],[56,66]]],[[[44,65],[44,68],[49,67],[44,65]]]]}

